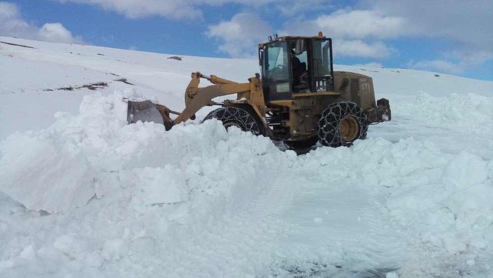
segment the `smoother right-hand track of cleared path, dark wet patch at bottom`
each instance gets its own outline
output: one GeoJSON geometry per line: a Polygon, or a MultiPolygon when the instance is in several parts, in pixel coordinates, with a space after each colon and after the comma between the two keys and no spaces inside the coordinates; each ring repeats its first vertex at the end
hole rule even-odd
{"type": "Polygon", "coordinates": [[[295,200],[285,218],[299,226],[287,241],[306,249],[307,260],[286,260],[287,276],[380,277],[400,267],[403,240],[381,217],[379,202],[355,184],[312,183],[295,200]]]}

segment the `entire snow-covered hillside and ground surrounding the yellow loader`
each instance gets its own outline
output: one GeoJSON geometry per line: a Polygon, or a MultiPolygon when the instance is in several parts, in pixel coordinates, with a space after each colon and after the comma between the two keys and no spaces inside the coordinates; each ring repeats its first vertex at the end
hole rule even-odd
{"type": "Polygon", "coordinates": [[[123,98],[259,71],[171,56],[0,37],[0,277],[493,276],[493,82],[335,66],[392,121],[296,155],[211,108],[127,125],[123,98]]]}

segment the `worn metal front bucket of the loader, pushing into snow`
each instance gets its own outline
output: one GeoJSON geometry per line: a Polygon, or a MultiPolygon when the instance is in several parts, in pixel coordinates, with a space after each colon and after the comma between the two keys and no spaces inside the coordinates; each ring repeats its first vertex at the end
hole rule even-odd
{"type": "Polygon", "coordinates": [[[139,120],[164,124],[166,130],[170,130],[173,126],[170,110],[166,106],[155,104],[150,100],[140,102],[129,100],[127,121],[128,123],[136,123],[139,120]]]}

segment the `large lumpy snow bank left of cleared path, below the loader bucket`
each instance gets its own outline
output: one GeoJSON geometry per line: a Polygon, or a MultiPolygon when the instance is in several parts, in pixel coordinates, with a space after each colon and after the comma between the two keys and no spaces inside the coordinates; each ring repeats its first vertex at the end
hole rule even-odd
{"type": "MultiPolygon", "coordinates": [[[[118,263],[130,249],[141,248],[146,241],[140,238],[161,240],[176,225],[199,230],[228,207],[248,204],[276,169],[292,164],[269,138],[236,128],[226,132],[217,120],[170,131],[152,122],[128,125],[126,97],[136,96],[131,91],[86,96],[79,115],[57,113],[50,128],[0,144],[0,191],[27,210],[8,201],[0,209],[35,217],[40,214],[32,210],[68,215],[60,225],[37,218],[30,230],[52,232],[30,239],[13,232],[22,229],[22,221],[9,224],[0,243],[11,247],[0,251],[0,273],[33,266],[23,260],[27,256],[46,265],[27,272],[36,275],[52,272],[54,262],[59,274],[71,269],[73,260],[88,267],[118,263]],[[26,249],[31,240],[42,243],[26,249]],[[23,249],[21,255],[17,250],[23,249]]],[[[155,244],[145,244],[142,252],[155,244]]]]}

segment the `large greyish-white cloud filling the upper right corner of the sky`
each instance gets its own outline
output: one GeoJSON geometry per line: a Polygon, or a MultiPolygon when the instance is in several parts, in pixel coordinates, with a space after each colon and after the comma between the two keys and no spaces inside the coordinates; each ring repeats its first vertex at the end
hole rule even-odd
{"type": "Polygon", "coordinates": [[[416,68],[462,74],[493,60],[491,0],[368,0],[362,5],[377,13],[404,18],[402,36],[420,35],[449,42],[440,51],[440,59],[418,62],[414,64],[416,68]]]}

